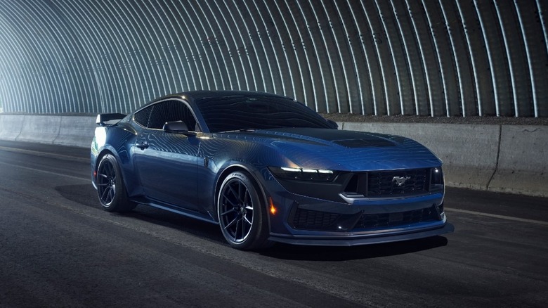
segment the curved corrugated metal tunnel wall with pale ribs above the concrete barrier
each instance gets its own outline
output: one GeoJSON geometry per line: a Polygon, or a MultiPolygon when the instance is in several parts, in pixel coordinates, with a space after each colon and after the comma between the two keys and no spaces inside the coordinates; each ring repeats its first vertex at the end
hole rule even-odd
{"type": "Polygon", "coordinates": [[[548,116],[547,0],[0,0],[5,113],[194,89],[327,113],[548,116]]]}

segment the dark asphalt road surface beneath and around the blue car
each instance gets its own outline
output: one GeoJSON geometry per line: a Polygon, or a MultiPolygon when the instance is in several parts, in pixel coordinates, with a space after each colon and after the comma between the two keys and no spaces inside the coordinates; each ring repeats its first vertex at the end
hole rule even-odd
{"type": "Polygon", "coordinates": [[[0,141],[0,307],[547,307],[548,199],[449,188],[455,233],[240,252],[218,226],[101,209],[89,150],[0,141]]]}

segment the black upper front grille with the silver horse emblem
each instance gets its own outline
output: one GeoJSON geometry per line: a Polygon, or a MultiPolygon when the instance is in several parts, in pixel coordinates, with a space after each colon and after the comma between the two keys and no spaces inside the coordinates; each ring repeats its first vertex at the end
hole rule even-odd
{"type": "Polygon", "coordinates": [[[367,198],[387,198],[428,192],[430,169],[364,172],[354,174],[345,193],[367,198]]]}

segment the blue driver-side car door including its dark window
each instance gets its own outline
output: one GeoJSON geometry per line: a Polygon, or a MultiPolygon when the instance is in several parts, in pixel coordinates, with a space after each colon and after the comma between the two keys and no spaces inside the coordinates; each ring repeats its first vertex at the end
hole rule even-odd
{"type": "Polygon", "coordinates": [[[135,168],[147,198],[170,207],[200,211],[197,207],[200,139],[162,129],[166,122],[177,120],[189,122],[189,129],[195,130],[195,119],[183,101],[162,101],[152,106],[148,125],[133,146],[135,168]]]}

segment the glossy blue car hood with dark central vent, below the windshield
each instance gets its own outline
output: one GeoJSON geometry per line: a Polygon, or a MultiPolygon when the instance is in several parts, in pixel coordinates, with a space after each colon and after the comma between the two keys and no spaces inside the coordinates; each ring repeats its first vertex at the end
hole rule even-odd
{"type": "Polygon", "coordinates": [[[245,134],[268,143],[293,167],[367,171],[441,165],[428,148],[402,136],[311,128],[261,129],[245,134]]]}

